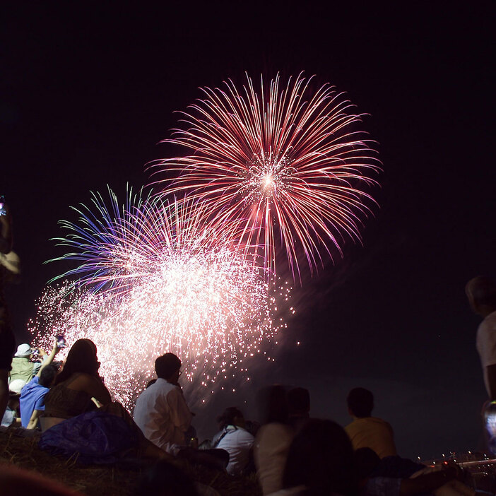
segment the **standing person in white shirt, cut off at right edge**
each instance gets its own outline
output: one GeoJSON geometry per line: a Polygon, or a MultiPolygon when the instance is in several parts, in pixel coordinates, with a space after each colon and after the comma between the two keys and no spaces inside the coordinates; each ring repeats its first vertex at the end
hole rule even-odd
{"type": "Polygon", "coordinates": [[[476,346],[483,367],[485,389],[490,401],[496,400],[496,283],[479,276],[468,281],[465,288],[468,302],[483,317],[477,329],[476,346]]]}

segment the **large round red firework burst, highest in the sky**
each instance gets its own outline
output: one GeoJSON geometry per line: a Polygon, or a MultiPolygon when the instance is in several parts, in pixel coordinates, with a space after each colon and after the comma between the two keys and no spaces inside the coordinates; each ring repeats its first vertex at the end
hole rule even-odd
{"type": "MultiPolygon", "coordinates": [[[[280,237],[293,271],[299,273],[298,245],[312,271],[321,261],[319,247],[340,249],[346,233],[360,239],[365,191],[376,182],[379,161],[370,140],[355,124],[361,116],[333,87],[312,94],[309,80],[279,76],[256,93],[252,79],[239,92],[232,81],[225,89],[203,88],[206,98],[183,112],[186,129],[175,129],[167,143],[191,155],[155,163],[155,173],[179,171],[164,179],[167,194],[182,192],[202,199],[218,221],[242,225],[247,250],[264,247],[268,268],[275,267],[280,237]]],[[[160,182],[160,180],[158,181],[160,182]]]]}

